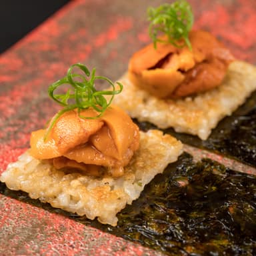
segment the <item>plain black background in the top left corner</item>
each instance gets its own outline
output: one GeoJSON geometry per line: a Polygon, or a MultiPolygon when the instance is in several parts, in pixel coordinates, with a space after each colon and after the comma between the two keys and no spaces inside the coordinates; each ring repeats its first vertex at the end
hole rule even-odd
{"type": "Polygon", "coordinates": [[[68,2],[69,0],[0,0],[0,53],[68,2]]]}

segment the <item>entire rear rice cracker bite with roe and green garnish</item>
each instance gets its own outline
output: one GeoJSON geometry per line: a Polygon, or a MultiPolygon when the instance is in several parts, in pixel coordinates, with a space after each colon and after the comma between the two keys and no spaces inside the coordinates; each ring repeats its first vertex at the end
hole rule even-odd
{"type": "Polygon", "coordinates": [[[235,60],[211,33],[191,31],[186,1],[149,8],[148,14],[153,43],[131,57],[114,103],[138,121],[207,139],[256,89],[256,68],[235,60]]]}

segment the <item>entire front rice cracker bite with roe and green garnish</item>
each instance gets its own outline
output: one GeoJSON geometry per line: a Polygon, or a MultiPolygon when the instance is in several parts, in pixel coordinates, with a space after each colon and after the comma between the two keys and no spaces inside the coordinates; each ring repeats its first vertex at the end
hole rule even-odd
{"type": "Polygon", "coordinates": [[[125,111],[111,105],[123,89],[117,85],[96,76],[95,69],[90,73],[85,65],[72,65],[67,76],[49,87],[63,109],[46,129],[31,133],[30,149],[8,165],[0,180],[32,199],[117,225],[116,214],[183,151],[177,139],[157,130],[139,131],[125,111]],[[98,91],[99,79],[113,90],[98,91]],[[56,93],[67,84],[70,89],[56,93]]]}

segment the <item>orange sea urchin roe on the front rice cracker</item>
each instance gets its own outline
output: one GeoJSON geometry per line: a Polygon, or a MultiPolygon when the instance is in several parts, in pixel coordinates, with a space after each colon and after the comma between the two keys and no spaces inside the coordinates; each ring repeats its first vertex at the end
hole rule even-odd
{"type": "MultiPolygon", "coordinates": [[[[95,117],[94,109],[80,112],[95,117]]],[[[31,133],[30,154],[36,159],[53,159],[57,169],[75,168],[99,175],[101,166],[113,176],[120,176],[123,167],[139,148],[139,128],[131,118],[115,106],[97,119],[79,117],[77,110],[67,111],[55,123],[44,141],[45,129],[31,133]]]]}

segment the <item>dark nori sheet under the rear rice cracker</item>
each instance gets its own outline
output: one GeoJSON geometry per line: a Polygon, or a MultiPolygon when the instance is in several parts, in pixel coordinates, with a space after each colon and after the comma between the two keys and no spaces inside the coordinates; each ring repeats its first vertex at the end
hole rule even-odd
{"type": "MultiPolygon", "coordinates": [[[[144,131],[156,128],[151,123],[135,122],[144,131]]],[[[163,131],[188,145],[221,153],[256,167],[256,91],[230,117],[221,120],[205,141],[197,136],[176,133],[173,129],[163,131]]]]}

